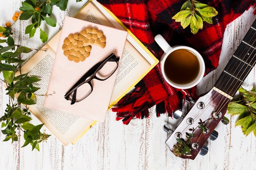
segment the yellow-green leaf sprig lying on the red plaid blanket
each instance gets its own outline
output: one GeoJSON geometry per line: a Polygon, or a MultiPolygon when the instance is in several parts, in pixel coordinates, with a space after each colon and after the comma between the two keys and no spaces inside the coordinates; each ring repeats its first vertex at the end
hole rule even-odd
{"type": "Polygon", "coordinates": [[[212,17],[218,12],[207,4],[196,0],[187,0],[181,7],[180,12],[172,17],[175,22],[180,22],[183,29],[190,25],[191,33],[196,34],[203,28],[203,22],[213,23],[212,17]]]}

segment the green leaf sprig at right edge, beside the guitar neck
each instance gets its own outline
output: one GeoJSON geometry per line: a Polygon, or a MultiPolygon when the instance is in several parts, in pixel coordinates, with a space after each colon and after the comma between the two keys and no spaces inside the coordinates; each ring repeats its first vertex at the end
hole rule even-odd
{"type": "Polygon", "coordinates": [[[247,91],[239,88],[239,98],[229,102],[227,113],[238,116],[235,126],[241,126],[244,135],[254,133],[256,137],[256,90],[254,87],[247,91]]]}

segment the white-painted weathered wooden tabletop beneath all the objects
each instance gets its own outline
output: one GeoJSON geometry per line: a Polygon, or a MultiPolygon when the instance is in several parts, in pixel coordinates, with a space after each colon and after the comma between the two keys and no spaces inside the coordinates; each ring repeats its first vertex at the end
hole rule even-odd
{"type": "MultiPolygon", "coordinates": [[[[43,24],[43,28],[49,33],[49,39],[61,29],[64,16],[74,16],[84,4],[85,0],[79,3],[69,0],[65,12],[54,7],[53,15],[57,20],[57,26],[45,27],[43,24]]],[[[18,11],[20,5],[21,0],[2,0],[0,25],[3,26],[6,21],[11,22],[13,13],[18,11]]],[[[204,77],[198,85],[198,94],[209,91],[216,82],[256,18],[252,12],[253,9],[250,9],[227,27],[219,67],[204,77]]],[[[18,21],[15,24],[13,29],[15,43],[39,49],[43,46],[39,33],[36,32],[35,38],[31,39],[25,35],[25,27],[28,23],[18,21]]],[[[23,58],[31,57],[35,53],[36,51],[31,52],[23,58]]],[[[243,87],[252,88],[255,72],[254,68],[243,87]]],[[[0,89],[0,116],[2,116],[8,98],[4,95],[6,92],[2,82],[0,89]]],[[[229,115],[227,117],[230,118],[229,115]]],[[[32,118],[32,123],[40,123],[34,116],[32,118]]],[[[252,134],[245,137],[240,127],[234,127],[236,118],[231,118],[228,125],[220,123],[217,126],[218,139],[208,142],[209,153],[206,156],[199,155],[195,160],[184,160],[170,152],[165,144],[166,133],[162,130],[163,124],[168,122],[175,126],[177,121],[166,115],[157,118],[153,107],[150,109],[149,119],[132,120],[125,126],[121,121],[115,120],[115,113],[109,112],[105,123],[98,122],[74,146],[64,147],[54,136],[51,136],[47,143],[40,144],[40,152],[36,150],[31,152],[30,146],[20,148],[24,143],[23,137],[12,145],[10,141],[0,142],[0,170],[255,170],[256,138],[252,134]]],[[[0,139],[1,141],[4,139],[2,133],[0,139]]]]}

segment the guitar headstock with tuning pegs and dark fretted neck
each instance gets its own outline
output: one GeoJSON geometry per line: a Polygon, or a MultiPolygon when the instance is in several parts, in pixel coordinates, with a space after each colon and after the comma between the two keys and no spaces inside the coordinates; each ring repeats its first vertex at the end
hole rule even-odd
{"type": "Polygon", "coordinates": [[[195,159],[198,153],[205,155],[208,152],[205,142],[218,137],[214,129],[220,121],[228,123],[224,117],[227,105],[255,63],[256,20],[210,92],[193,102],[193,107],[185,116],[181,115],[181,111],[174,113],[175,118],[182,118],[174,131],[168,124],[164,125],[164,130],[170,134],[166,144],[171,152],[184,159],[195,159]]]}

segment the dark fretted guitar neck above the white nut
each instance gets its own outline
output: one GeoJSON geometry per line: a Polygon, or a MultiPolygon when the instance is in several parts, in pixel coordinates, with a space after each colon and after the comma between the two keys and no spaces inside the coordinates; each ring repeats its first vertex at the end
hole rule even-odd
{"type": "Polygon", "coordinates": [[[256,20],[231,57],[214,87],[234,96],[256,63],[256,20]]]}

